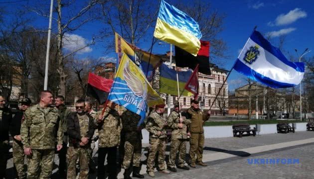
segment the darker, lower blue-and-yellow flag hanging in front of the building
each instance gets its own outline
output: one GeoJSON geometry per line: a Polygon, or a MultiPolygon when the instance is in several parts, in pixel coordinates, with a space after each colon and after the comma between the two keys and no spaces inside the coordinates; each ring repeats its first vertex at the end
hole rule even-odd
{"type": "MultiPolygon", "coordinates": [[[[176,72],[173,69],[170,69],[165,64],[161,64],[159,67],[160,76],[159,76],[159,92],[178,95],[178,88],[176,82],[176,72]]],[[[190,76],[192,75],[191,71],[178,72],[178,81],[179,81],[179,92],[181,93],[184,90],[184,86],[190,76]]],[[[193,95],[191,92],[184,90],[182,93],[183,96],[193,95]]]]}

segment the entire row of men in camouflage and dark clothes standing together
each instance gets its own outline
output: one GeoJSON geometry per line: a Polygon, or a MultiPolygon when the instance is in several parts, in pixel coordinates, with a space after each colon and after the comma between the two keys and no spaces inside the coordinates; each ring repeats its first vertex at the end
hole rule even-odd
{"type": "MultiPolygon", "coordinates": [[[[52,107],[52,93],[45,90],[40,92],[39,103],[36,105],[30,106],[30,99],[24,98],[21,101],[21,113],[17,113],[13,119],[8,119],[6,116],[6,114],[9,114],[9,110],[3,107],[3,101],[4,98],[0,95],[0,127],[2,129],[4,126],[2,124],[4,120],[2,119],[5,119],[5,121],[12,120],[12,126],[16,125],[10,127],[10,132],[14,139],[13,161],[19,179],[26,178],[26,171],[24,171],[25,155],[28,164],[27,178],[49,179],[52,173],[55,151],[59,152],[59,174],[61,178],[75,179],[76,163],[79,160],[79,178],[87,179],[89,164],[92,161],[91,144],[93,139],[98,137],[98,179],[104,179],[106,176],[104,166],[106,155],[108,177],[109,179],[117,179],[116,157],[121,137],[124,138],[123,146],[120,146],[120,148],[124,148],[122,162],[122,167],[125,169],[124,178],[131,179],[130,175],[133,173],[133,177],[143,179],[144,176],[140,174],[140,171],[141,130],[144,127],[150,132],[147,160],[147,172],[150,177],[155,177],[154,165],[157,153],[158,171],[160,173],[169,174],[167,168],[171,172],[176,172],[175,158],[177,152],[179,152],[177,168],[189,170],[185,165],[186,141],[189,137],[190,166],[194,168],[195,164],[206,166],[202,162],[203,122],[209,116],[199,110],[198,101],[196,100],[192,101],[191,108],[187,110],[183,117],[181,117],[179,106],[176,105],[166,119],[163,117],[164,104],[157,105],[155,110],[148,116],[147,122],[140,126],[138,126],[138,123],[141,117],[138,114],[126,109],[117,110],[117,104],[111,101],[109,101],[104,112],[100,110],[96,113],[91,110],[90,103],[79,99],[75,103],[76,112],[71,112],[70,109],[65,107],[63,96],[57,96],[55,99],[56,107],[52,107]],[[168,167],[165,165],[167,128],[172,130],[168,167]],[[95,137],[95,129],[98,129],[98,137],[95,137]],[[121,132],[123,136],[121,136],[121,132]]],[[[8,148],[8,139],[4,140],[2,138],[0,150],[5,152],[8,148]]],[[[5,155],[1,157],[3,158],[5,155]]],[[[0,177],[3,176],[2,178],[4,178],[2,173],[3,171],[5,173],[5,166],[2,166],[2,161],[6,162],[6,160],[0,160],[0,177]]]]}

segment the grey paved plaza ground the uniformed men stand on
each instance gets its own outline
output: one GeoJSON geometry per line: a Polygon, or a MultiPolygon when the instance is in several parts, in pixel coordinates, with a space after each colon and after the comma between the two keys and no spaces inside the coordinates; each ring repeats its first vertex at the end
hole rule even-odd
{"type": "MultiPolygon", "coordinates": [[[[168,144],[169,145],[169,144],[168,144]]],[[[146,179],[147,145],[143,146],[142,170],[146,179]]],[[[188,146],[189,147],[189,146],[188,146]]],[[[166,155],[169,155],[167,146],[166,155]]],[[[97,162],[97,153],[94,155],[97,162]]],[[[156,172],[158,179],[313,179],[314,177],[314,132],[296,132],[288,134],[267,134],[250,137],[213,138],[205,140],[203,161],[207,167],[169,175],[156,172]],[[280,160],[275,164],[263,164],[261,160],[280,160]],[[287,160],[295,160],[289,163],[287,160]],[[252,164],[253,162],[253,164],[252,164]]],[[[52,178],[58,179],[55,158],[52,178]]],[[[8,161],[8,174],[13,178],[12,159],[8,161]]],[[[123,169],[118,178],[123,178],[123,169]]],[[[95,179],[96,173],[90,179],[95,179]]]]}

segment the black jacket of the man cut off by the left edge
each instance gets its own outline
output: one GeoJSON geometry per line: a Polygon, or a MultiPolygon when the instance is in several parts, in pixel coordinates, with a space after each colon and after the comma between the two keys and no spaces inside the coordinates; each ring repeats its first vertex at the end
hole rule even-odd
{"type": "Polygon", "coordinates": [[[2,116],[0,121],[0,142],[8,140],[9,125],[12,121],[12,112],[9,108],[2,109],[2,116]]]}

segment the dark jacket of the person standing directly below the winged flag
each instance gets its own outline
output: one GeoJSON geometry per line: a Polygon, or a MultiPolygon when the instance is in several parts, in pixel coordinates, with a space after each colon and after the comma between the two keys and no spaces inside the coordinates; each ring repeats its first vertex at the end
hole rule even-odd
{"type": "MultiPolygon", "coordinates": [[[[121,115],[122,125],[123,125],[123,135],[126,141],[134,143],[142,140],[142,131],[138,130],[138,123],[141,119],[141,116],[126,110],[121,115]]],[[[141,124],[141,128],[144,128],[145,125],[141,124]]]]}

